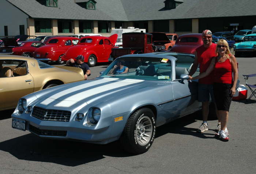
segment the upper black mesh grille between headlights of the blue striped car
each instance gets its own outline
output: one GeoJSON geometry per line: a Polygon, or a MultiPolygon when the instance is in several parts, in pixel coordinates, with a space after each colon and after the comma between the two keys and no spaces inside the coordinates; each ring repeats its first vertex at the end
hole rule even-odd
{"type": "Polygon", "coordinates": [[[71,116],[71,112],[65,110],[53,110],[34,107],[32,116],[41,120],[68,122],[71,116]]]}

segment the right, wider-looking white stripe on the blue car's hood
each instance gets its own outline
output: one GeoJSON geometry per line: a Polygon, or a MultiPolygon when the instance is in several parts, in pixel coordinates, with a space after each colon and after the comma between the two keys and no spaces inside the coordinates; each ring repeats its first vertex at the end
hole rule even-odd
{"type": "Polygon", "coordinates": [[[134,80],[134,79],[125,79],[121,80],[119,82],[114,82],[111,84],[105,84],[103,86],[99,86],[90,90],[86,90],[83,92],[79,92],[78,94],[72,95],[71,97],[68,97],[64,99],[64,101],[59,102],[57,105],[58,107],[70,107],[74,105],[76,102],[79,102],[85,98],[91,97],[93,95],[99,94],[101,92],[106,92],[108,90],[113,90],[115,88],[120,88],[123,86],[127,86],[130,84],[140,83],[144,80],[134,80]]]}

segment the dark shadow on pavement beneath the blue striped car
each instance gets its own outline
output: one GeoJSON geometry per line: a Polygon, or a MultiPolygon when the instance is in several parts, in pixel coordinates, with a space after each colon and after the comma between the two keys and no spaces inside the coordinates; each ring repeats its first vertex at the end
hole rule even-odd
{"type": "MultiPolygon", "coordinates": [[[[209,133],[196,133],[196,128],[184,128],[196,120],[202,119],[201,111],[179,118],[157,128],[157,137],[166,133],[193,135],[200,138],[211,138],[209,133]]],[[[157,138],[156,137],[156,138],[157,138]]],[[[133,156],[123,150],[119,141],[109,144],[90,144],[77,141],[49,140],[32,133],[0,142],[0,150],[9,152],[21,160],[51,162],[65,166],[79,166],[106,156],[133,156]]]]}

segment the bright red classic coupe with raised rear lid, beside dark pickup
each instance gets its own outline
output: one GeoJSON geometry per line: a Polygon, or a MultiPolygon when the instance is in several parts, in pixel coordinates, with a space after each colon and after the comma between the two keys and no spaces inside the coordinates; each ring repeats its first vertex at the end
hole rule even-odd
{"type": "Polygon", "coordinates": [[[72,46],[67,50],[64,56],[62,56],[62,61],[66,62],[82,54],[84,56],[84,62],[90,67],[94,67],[97,62],[108,62],[116,39],[117,34],[113,34],[110,37],[82,37],[76,46],[72,46]]]}

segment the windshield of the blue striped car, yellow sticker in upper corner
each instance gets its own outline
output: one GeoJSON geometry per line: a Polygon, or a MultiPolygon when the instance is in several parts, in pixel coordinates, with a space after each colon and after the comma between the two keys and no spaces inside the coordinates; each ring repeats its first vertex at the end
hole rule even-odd
{"type": "Polygon", "coordinates": [[[122,79],[170,80],[172,64],[167,58],[123,57],[117,58],[100,77],[122,79]]]}

